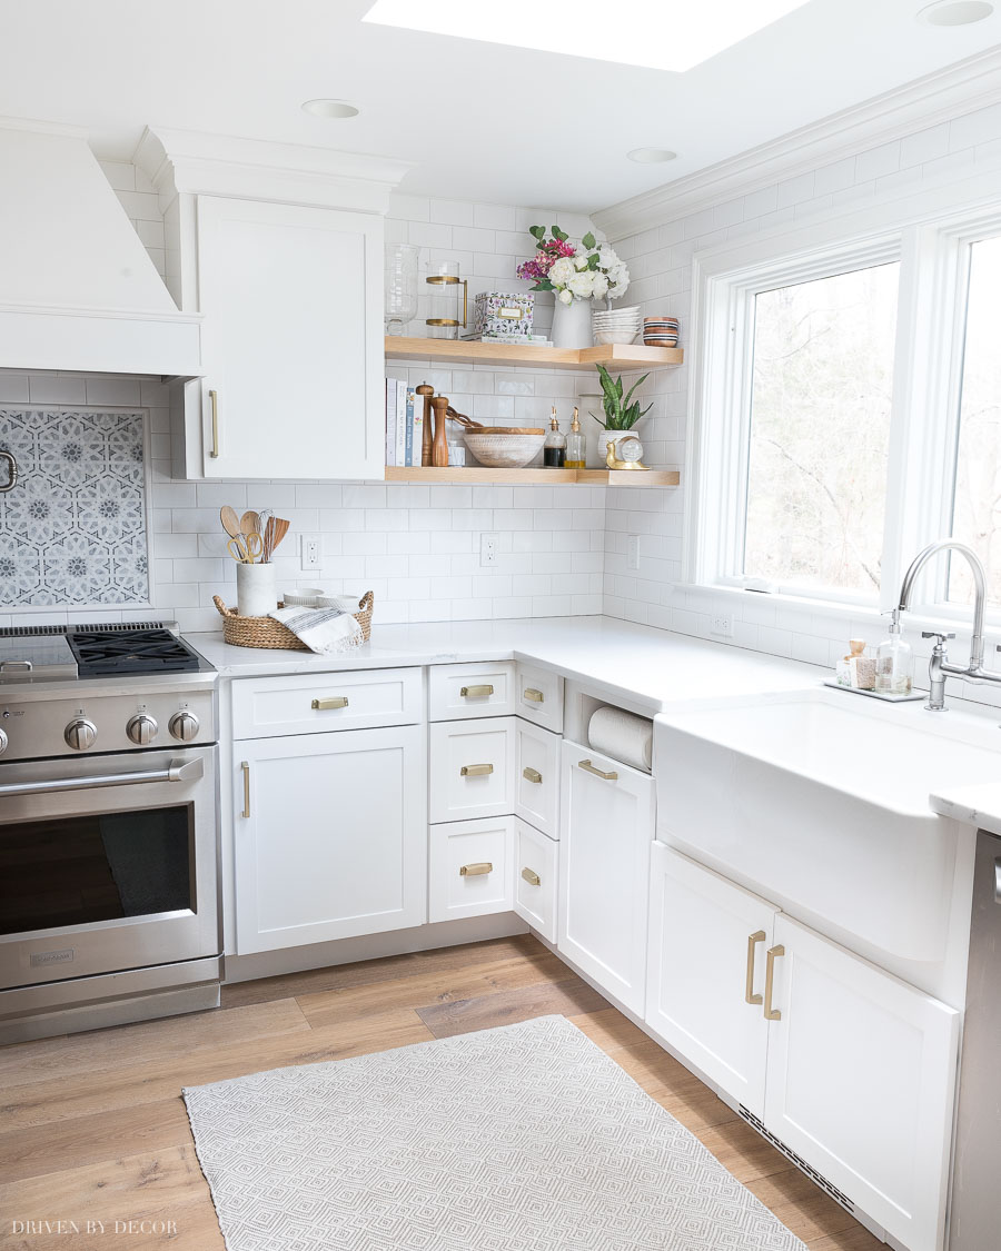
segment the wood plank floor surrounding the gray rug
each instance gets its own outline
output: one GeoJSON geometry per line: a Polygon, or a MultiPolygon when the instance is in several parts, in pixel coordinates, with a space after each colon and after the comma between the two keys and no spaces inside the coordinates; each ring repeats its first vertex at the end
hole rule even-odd
{"type": "Polygon", "coordinates": [[[0,1247],[223,1251],[181,1086],[549,1013],[579,1026],[811,1251],[882,1246],[562,961],[521,936],[245,982],[224,987],[218,1012],[0,1048],[0,1247]],[[44,1220],[81,1232],[14,1232],[14,1222],[44,1220]],[[105,1236],[88,1233],[88,1221],[103,1222],[105,1236]],[[129,1221],[153,1225],[128,1232],[129,1221]]]}

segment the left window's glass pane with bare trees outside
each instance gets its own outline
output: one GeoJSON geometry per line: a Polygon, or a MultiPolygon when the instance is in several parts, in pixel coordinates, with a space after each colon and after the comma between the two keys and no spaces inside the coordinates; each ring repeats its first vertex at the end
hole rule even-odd
{"type": "Polygon", "coordinates": [[[878,593],[898,276],[756,296],[744,575],[878,593]]]}

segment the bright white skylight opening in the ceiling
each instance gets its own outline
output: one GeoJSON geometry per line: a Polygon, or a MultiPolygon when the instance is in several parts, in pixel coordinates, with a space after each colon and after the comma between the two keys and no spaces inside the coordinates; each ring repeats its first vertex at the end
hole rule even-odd
{"type": "Polygon", "coordinates": [[[806,0],[375,0],[363,21],[596,61],[683,71],[806,0]]]}

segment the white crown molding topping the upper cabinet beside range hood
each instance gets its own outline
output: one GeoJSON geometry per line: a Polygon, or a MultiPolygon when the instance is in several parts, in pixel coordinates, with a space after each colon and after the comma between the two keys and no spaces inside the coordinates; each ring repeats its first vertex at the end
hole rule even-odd
{"type": "Polygon", "coordinates": [[[385,213],[414,163],[304,144],[149,126],[133,161],[165,209],[178,194],[233,195],[385,213]]]}

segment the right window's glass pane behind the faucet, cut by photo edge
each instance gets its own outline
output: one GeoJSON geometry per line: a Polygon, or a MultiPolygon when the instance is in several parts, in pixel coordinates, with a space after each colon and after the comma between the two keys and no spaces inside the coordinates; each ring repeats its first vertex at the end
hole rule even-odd
{"type": "MultiPolygon", "coordinates": [[[[1001,604],[1001,238],[970,249],[952,535],[987,570],[987,598],[1001,604]]],[[[965,560],[950,562],[948,599],[973,602],[965,560]]]]}

